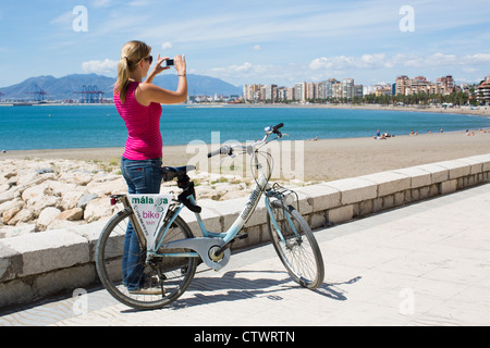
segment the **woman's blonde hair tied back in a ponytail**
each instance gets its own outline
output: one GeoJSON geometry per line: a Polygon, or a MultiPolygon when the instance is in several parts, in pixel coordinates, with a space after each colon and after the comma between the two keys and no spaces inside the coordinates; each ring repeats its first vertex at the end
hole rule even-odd
{"type": "Polygon", "coordinates": [[[121,102],[126,100],[130,86],[130,73],[135,71],[138,63],[151,53],[151,47],[142,41],[130,41],[121,49],[121,60],[118,64],[118,80],[114,92],[119,92],[121,102]]]}

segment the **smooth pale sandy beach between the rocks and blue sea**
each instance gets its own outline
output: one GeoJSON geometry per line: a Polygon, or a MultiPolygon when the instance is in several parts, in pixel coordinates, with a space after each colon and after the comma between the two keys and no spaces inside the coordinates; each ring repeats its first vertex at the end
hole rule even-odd
{"type": "MultiPolygon", "coordinates": [[[[333,181],[388,170],[433,163],[490,152],[490,130],[397,135],[388,139],[350,138],[306,140],[304,179],[333,181]]],[[[294,146],[292,147],[295,148],[294,146]]],[[[2,159],[68,159],[118,165],[123,148],[26,150],[0,153],[2,159]]],[[[194,157],[186,146],[163,148],[163,165],[185,165],[194,157]]]]}

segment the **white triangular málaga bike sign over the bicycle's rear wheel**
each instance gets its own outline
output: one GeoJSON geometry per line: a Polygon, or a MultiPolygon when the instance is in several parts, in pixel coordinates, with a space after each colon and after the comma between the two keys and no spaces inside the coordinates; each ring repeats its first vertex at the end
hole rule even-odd
{"type": "Polygon", "coordinates": [[[158,231],[163,225],[172,195],[128,195],[131,207],[146,236],[147,246],[152,248],[158,231]]]}

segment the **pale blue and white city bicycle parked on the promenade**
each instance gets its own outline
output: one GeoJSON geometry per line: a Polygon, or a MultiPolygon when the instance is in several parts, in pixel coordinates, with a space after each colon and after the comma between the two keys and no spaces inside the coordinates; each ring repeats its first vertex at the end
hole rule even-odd
{"type": "MultiPolygon", "coordinates": [[[[315,236],[298,210],[297,195],[279,184],[269,184],[271,170],[268,152],[260,151],[265,145],[281,139],[283,124],[268,126],[261,140],[253,145],[223,145],[209,152],[208,158],[226,154],[250,154],[256,187],[232,226],[224,233],[206,229],[200,217],[201,208],[196,203],[194,183],[187,172],[195,166],[161,170],[164,182],[177,179],[182,194],[174,195],[115,195],[111,203],[124,207],[105,226],[96,247],[96,266],[106,289],[120,302],[139,310],[159,309],[179,299],[189,286],[196,268],[205,263],[212,270],[224,268],[230,261],[230,247],[254,213],[265,195],[268,227],[274,249],[289,274],[301,286],[316,289],[323,283],[324,265],[315,236]],[[274,138],[269,139],[272,135],[274,138]],[[258,157],[266,159],[268,172],[258,157]],[[268,175],[266,175],[268,173],[268,175]],[[257,177],[256,177],[257,176],[257,177]],[[179,215],[184,207],[196,215],[203,237],[194,237],[191,228],[179,215]],[[131,291],[123,274],[124,239],[126,229],[133,227],[139,241],[138,279],[144,288],[131,291]]],[[[266,169],[267,170],[267,169],[266,169]]],[[[134,271],[134,270],[132,270],[134,271]]]]}

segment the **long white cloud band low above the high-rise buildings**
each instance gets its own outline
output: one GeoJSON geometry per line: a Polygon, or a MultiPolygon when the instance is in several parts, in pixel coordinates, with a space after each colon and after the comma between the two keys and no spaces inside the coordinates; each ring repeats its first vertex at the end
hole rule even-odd
{"type": "Polygon", "coordinates": [[[452,74],[461,79],[467,74],[470,78],[488,75],[490,54],[475,53],[466,55],[433,53],[428,55],[366,53],[360,55],[320,57],[306,64],[232,64],[196,73],[222,78],[235,85],[278,84],[291,85],[297,82],[320,82],[331,77],[342,79],[353,77],[358,83],[377,79],[394,80],[400,75],[427,76],[437,78],[452,74]],[[475,77],[473,77],[475,76],[475,77]]]}

